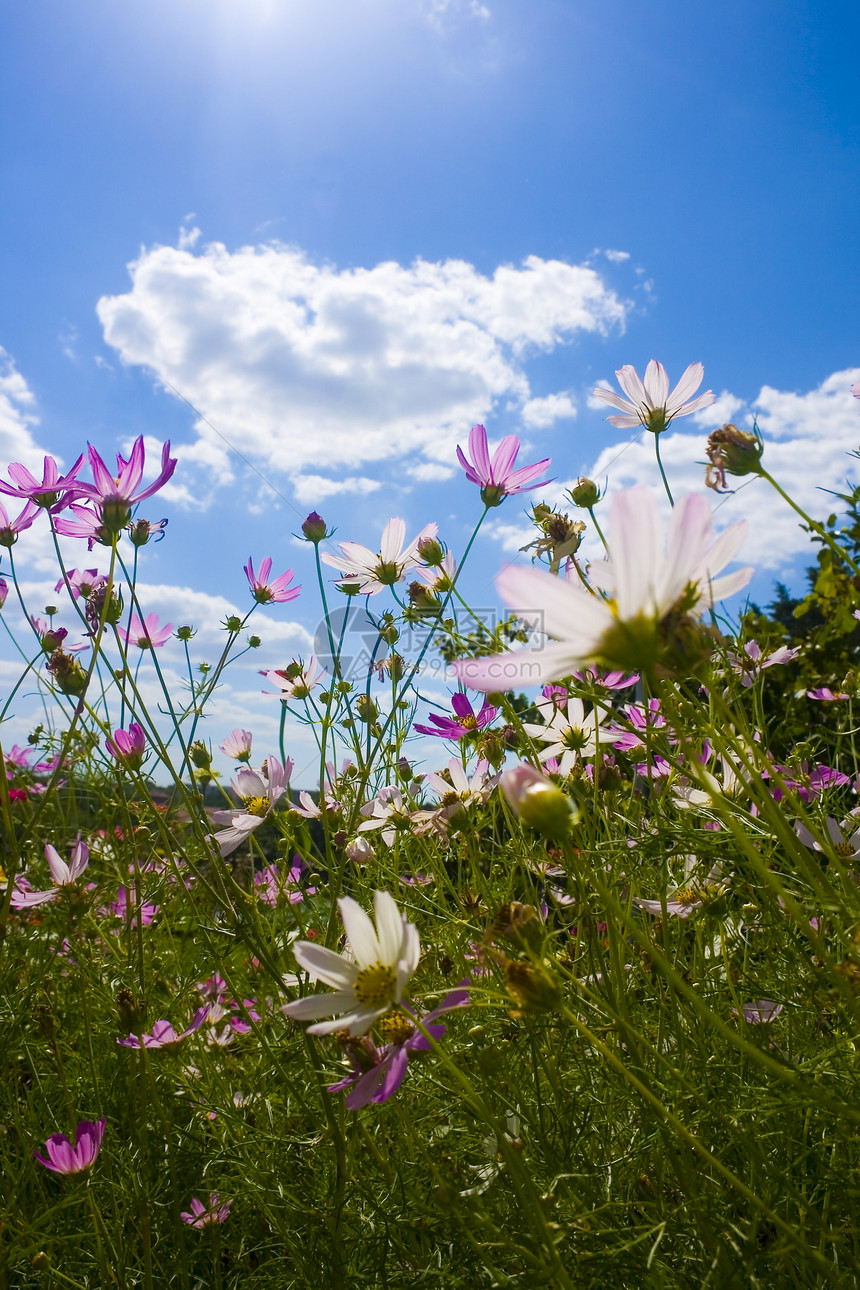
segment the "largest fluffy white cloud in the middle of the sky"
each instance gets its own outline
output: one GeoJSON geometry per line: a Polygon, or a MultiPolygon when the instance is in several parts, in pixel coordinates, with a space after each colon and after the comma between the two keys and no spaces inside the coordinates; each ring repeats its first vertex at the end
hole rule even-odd
{"type": "Polygon", "coordinates": [[[623,329],[629,308],[594,268],[536,255],[486,276],[464,261],[339,270],[279,243],[213,243],[143,250],[130,273],[126,294],[98,302],[107,343],[291,476],[321,462],[445,462],[500,402],[542,402],[529,353],[623,329]]]}

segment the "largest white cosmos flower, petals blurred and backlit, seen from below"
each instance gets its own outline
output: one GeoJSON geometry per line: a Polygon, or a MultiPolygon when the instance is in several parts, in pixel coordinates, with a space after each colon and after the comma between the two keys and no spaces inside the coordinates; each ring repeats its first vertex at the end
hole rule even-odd
{"type": "Polygon", "coordinates": [[[539,626],[549,644],[467,658],[453,664],[473,690],[511,690],[570,676],[584,663],[638,668],[659,654],[659,626],[673,610],[701,615],[749,582],[752,568],[718,578],[747,535],[740,520],[713,541],[710,507],[700,494],[682,498],[664,541],[658,498],[640,484],[616,493],[610,510],[610,560],[589,566],[605,597],[579,582],[511,565],[496,578],[502,600],[539,626]]]}

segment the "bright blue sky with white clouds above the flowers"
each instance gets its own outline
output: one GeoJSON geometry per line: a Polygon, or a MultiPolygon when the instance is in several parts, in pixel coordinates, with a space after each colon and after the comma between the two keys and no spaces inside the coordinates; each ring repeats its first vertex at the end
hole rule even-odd
{"type": "MultiPolygon", "coordinates": [[[[838,0],[6,5],[4,461],[171,437],[152,608],[193,609],[211,653],[248,555],[293,565],[307,595],[268,611],[260,666],[315,626],[299,512],[370,544],[391,513],[435,519],[462,547],[472,419],[552,455],[560,488],[610,462],[610,486],[651,477],[651,445],[618,457],[588,401],[624,362],[701,360],[719,396],[667,436],[679,489],[708,430],[757,412],[821,507],[860,440],[859,40],[838,0]]],[[[721,507],[741,515],[767,597],[802,547],[763,485],[721,507]]],[[[525,541],[509,501],[476,595],[525,541]]],[[[44,542],[27,553],[36,595],[44,542]]]]}

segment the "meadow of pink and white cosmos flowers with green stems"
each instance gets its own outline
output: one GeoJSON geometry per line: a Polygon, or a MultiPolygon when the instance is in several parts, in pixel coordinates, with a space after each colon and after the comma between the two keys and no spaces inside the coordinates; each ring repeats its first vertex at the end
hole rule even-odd
{"type": "MultiPolygon", "coordinates": [[[[596,393],[659,463],[709,404],[700,365],[618,375],[596,393]]],[[[148,473],[142,440],[4,472],[0,595],[31,525],[59,580],[21,600],[28,635],[4,618],[0,1286],[859,1282],[860,490],[798,512],[807,593],[758,609],[747,524],[710,504],[781,493],[754,428],[703,441],[712,493],[660,464],[660,495],[580,480],[566,510],[520,450],[480,426],[458,450],[462,552],[308,515],[295,573],[249,561],[213,659],[138,597],[169,444],[148,473]],[[523,503],[489,615],[469,550],[523,503]],[[325,650],[255,655],[281,712],[260,747],[208,706],[251,614],[299,593],[325,650]]]]}

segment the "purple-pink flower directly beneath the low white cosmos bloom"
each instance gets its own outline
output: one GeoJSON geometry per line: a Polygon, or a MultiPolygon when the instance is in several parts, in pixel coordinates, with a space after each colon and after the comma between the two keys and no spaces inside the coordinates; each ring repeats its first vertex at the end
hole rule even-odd
{"type": "MultiPolygon", "coordinates": [[[[428,1035],[440,1040],[446,1031],[444,1024],[433,1024],[437,1017],[450,1013],[455,1007],[467,1007],[469,1002],[468,989],[459,988],[451,991],[438,1007],[432,1013],[425,1013],[420,1023],[428,1035]]],[[[387,1102],[397,1093],[404,1082],[409,1059],[415,1053],[427,1053],[429,1042],[424,1038],[411,1018],[415,1014],[409,1007],[402,1013],[388,1013],[376,1023],[376,1029],[383,1036],[391,1036],[391,1042],[376,1047],[369,1036],[353,1040],[348,1047],[349,1060],[353,1071],[339,1084],[331,1084],[329,1093],[339,1093],[342,1089],[352,1089],[347,1095],[346,1106],[349,1111],[358,1111],[369,1103],[387,1102]]]]}

